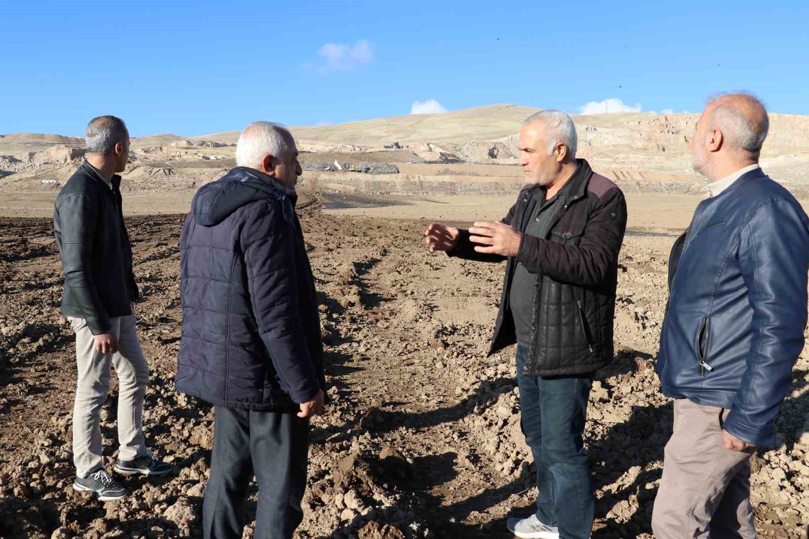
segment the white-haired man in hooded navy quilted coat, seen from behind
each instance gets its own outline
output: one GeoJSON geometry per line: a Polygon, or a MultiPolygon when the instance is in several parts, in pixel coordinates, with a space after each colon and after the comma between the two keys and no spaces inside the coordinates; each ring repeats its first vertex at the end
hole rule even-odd
{"type": "Polygon", "coordinates": [[[248,125],[236,168],[194,196],[180,235],[183,334],[176,386],[215,406],[206,539],[242,537],[255,474],[256,539],[303,520],[309,420],[324,411],[314,278],[294,206],[289,131],[248,125]]]}

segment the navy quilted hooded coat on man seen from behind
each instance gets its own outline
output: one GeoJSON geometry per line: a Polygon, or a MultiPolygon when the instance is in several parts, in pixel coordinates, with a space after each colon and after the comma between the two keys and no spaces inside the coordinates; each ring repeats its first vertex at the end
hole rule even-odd
{"type": "Polygon", "coordinates": [[[179,391],[228,408],[286,412],[324,388],[295,201],[244,167],[197,192],[180,235],[179,391]]]}

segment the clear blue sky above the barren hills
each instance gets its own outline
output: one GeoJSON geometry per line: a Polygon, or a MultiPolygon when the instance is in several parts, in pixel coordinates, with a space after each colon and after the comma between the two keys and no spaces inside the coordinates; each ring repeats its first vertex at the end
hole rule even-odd
{"type": "Polygon", "coordinates": [[[0,133],[115,114],[190,136],[429,100],[697,112],[735,89],[809,114],[809,2],[714,3],[0,2],[0,133]]]}

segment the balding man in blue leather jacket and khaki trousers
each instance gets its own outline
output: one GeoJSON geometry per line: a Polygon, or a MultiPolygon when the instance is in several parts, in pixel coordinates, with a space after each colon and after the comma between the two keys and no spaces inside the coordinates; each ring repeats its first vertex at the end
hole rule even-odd
{"type": "Polygon", "coordinates": [[[694,170],[714,183],[672,249],[657,371],[674,432],[654,502],[658,539],[756,537],[750,456],[772,446],[807,324],[809,219],[758,165],[769,129],[752,95],[697,122],[694,170]]]}

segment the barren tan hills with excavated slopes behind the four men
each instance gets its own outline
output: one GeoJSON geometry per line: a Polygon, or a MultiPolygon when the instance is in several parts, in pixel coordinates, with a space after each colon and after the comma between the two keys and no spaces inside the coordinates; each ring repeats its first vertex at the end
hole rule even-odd
{"type": "MultiPolygon", "coordinates": [[[[303,185],[324,193],[506,194],[519,189],[517,133],[537,108],[495,104],[445,114],[291,127],[307,152],[303,185]],[[362,163],[388,163],[378,175],[362,163]],[[337,164],[335,164],[337,163],[337,164]],[[342,163],[342,164],[341,164],[342,163]],[[345,166],[344,166],[345,165],[345,166]]],[[[701,194],[691,169],[697,114],[622,112],[574,115],[578,155],[629,193],[701,194]]],[[[772,114],[762,166],[809,197],[809,117],[772,114]]],[[[272,118],[270,118],[272,119],[272,118]]],[[[244,126],[239,125],[239,128],[244,126]]],[[[189,193],[233,166],[239,131],[133,139],[127,186],[133,193],[189,193]],[[171,170],[167,170],[171,169],[171,170]]],[[[83,138],[0,136],[0,191],[57,189],[83,138]],[[57,147],[58,146],[58,147],[57,147]]]]}

